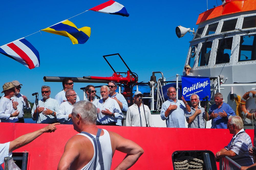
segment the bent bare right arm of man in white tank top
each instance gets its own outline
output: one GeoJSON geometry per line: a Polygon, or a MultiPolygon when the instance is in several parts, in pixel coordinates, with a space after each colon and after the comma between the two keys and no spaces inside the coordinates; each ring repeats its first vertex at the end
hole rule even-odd
{"type": "Polygon", "coordinates": [[[116,133],[109,132],[109,134],[111,138],[111,143],[113,141],[114,145],[112,148],[114,150],[127,153],[124,160],[115,168],[115,170],[130,168],[137,162],[140,156],[144,153],[143,149],[135,142],[129,139],[125,139],[116,133]]]}

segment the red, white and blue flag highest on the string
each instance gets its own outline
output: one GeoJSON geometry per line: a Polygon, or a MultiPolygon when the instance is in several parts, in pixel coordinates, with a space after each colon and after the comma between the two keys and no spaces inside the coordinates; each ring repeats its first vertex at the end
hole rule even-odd
{"type": "Polygon", "coordinates": [[[122,15],[124,17],[129,17],[129,14],[125,7],[122,4],[119,4],[118,2],[115,2],[113,0],[95,6],[89,10],[102,12],[106,14],[122,15]]]}

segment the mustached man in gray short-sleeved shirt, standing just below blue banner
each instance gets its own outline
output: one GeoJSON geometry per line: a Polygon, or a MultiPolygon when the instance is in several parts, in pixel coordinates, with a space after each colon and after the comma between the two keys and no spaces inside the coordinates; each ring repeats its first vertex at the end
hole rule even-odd
{"type": "Polygon", "coordinates": [[[186,114],[188,128],[205,128],[205,109],[198,106],[199,96],[192,94],[190,96],[190,102],[192,104],[191,114],[186,114]]]}

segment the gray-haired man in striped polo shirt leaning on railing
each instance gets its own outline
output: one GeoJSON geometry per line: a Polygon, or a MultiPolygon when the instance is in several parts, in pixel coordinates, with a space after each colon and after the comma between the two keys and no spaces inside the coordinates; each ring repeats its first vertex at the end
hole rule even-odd
{"type": "Polygon", "coordinates": [[[229,144],[216,153],[215,158],[228,156],[240,166],[250,166],[253,164],[252,156],[249,155],[249,148],[252,148],[250,136],[243,129],[243,121],[239,116],[229,116],[228,129],[230,134],[234,134],[229,144]]]}

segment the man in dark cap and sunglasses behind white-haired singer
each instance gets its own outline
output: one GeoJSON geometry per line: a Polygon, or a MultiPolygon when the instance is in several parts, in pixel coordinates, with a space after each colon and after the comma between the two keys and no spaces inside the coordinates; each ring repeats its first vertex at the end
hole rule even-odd
{"type": "MultiPolygon", "coordinates": [[[[127,112],[128,110],[128,104],[125,100],[124,96],[120,93],[116,93],[115,90],[117,89],[117,83],[115,81],[110,81],[108,83],[108,87],[110,88],[109,97],[115,99],[117,103],[119,104],[119,107],[122,111],[127,112]]],[[[118,119],[117,125],[122,126],[122,120],[118,119]]]]}

